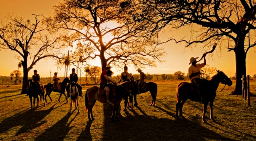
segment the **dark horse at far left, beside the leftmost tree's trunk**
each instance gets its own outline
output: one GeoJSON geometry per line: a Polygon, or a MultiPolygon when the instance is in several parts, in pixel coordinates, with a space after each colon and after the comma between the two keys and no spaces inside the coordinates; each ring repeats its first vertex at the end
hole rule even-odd
{"type": "Polygon", "coordinates": [[[40,89],[35,82],[32,82],[32,79],[27,80],[27,94],[29,95],[30,104],[31,104],[31,111],[38,108],[38,95],[40,96],[40,101],[43,97],[43,104],[45,106],[45,90],[43,89],[43,85],[40,83],[40,89]],[[41,90],[42,89],[42,90],[41,90]],[[32,105],[32,97],[34,97],[34,107],[32,105]],[[35,108],[35,99],[37,99],[37,107],[35,108]]]}

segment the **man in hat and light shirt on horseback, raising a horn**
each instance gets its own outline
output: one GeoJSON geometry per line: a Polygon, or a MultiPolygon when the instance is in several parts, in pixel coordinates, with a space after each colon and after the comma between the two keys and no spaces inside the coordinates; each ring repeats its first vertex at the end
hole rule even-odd
{"type": "Polygon", "coordinates": [[[190,60],[189,60],[190,61],[189,64],[191,64],[191,66],[189,67],[189,78],[190,78],[191,82],[193,84],[195,84],[195,86],[197,87],[198,93],[199,93],[199,95],[201,97],[201,100],[203,102],[205,100],[205,96],[204,96],[204,92],[202,92],[202,90],[203,90],[202,89],[203,79],[200,78],[200,74],[201,74],[200,69],[206,65],[205,54],[203,54],[204,62],[202,64],[197,64],[197,61],[196,61],[197,58],[198,57],[196,57],[196,58],[191,57],[190,60]]]}

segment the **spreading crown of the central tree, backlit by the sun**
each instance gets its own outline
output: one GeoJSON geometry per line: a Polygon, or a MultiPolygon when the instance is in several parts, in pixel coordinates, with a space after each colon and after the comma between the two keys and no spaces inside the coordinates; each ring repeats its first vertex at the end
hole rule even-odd
{"type": "Polygon", "coordinates": [[[165,51],[154,43],[146,20],[140,18],[137,0],[64,0],[54,6],[54,16],[46,18],[53,30],[68,30],[65,40],[77,47],[74,60],[99,57],[101,69],[107,64],[156,66],[165,51]]]}

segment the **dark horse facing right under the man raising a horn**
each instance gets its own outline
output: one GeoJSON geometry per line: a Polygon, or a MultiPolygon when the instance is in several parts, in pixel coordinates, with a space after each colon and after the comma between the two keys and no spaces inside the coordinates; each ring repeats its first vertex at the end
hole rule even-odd
{"type": "MultiPolygon", "coordinates": [[[[213,119],[213,101],[216,97],[216,90],[219,86],[219,83],[223,83],[228,86],[232,85],[232,81],[225,75],[222,71],[217,71],[217,74],[211,77],[211,80],[206,80],[205,84],[202,86],[205,90],[205,101],[202,103],[203,106],[203,116],[202,121],[205,121],[205,113],[207,110],[207,105],[210,102],[210,119],[211,121],[215,121],[213,119]]],[[[187,99],[190,99],[195,102],[201,102],[200,96],[198,96],[198,93],[195,91],[191,91],[192,84],[188,82],[182,82],[180,83],[176,88],[176,94],[177,94],[177,103],[176,103],[176,119],[181,116],[182,118],[185,118],[182,116],[182,107],[187,99]],[[178,116],[178,109],[179,109],[179,116],[178,116]]]]}

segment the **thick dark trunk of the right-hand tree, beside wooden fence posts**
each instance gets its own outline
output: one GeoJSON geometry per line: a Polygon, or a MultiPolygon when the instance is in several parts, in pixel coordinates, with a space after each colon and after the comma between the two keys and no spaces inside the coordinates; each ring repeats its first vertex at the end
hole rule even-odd
{"type": "MultiPolygon", "coordinates": [[[[238,37],[235,48],[236,84],[231,94],[242,95],[242,75],[246,75],[245,37],[238,37]]],[[[245,80],[246,81],[246,80],[245,80]]]]}

